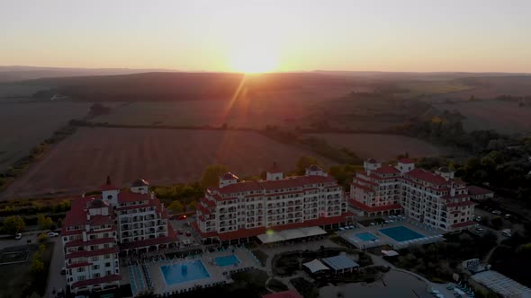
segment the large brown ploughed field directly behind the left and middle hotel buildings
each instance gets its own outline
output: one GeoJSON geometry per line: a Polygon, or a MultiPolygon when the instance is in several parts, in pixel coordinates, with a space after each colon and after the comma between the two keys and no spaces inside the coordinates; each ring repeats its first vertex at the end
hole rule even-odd
{"type": "MultiPolygon", "coordinates": [[[[315,156],[253,132],[80,127],[15,180],[2,198],[97,190],[106,175],[119,187],[143,178],[152,184],[200,180],[215,163],[243,177],[277,162],[295,169],[302,155],[315,156]]],[[[329,166],[333,162],[318,157],[329,166]]]]}

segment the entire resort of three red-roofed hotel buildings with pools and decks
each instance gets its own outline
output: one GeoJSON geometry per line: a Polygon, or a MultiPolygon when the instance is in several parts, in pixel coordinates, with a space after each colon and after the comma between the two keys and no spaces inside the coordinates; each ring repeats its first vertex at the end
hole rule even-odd
{"type": "Polygon", "coordinates": [[[229,285],[240,272],[269,272],[284,264],[269,264],[263,251],[259,259],[247,242],[264,244],[260,250],[266,251],[295,245],[299,249],[284,250],[284,257],[304,255],[301,268],[309,276],[341,279],[356,275],[362,267],[357,262],[365,261],[332,244],[329,232],[358,251],[387,245],[393,250],[385,255],[396,256],[395,250],[467,228],[474,223],[471,198],[490,196],[483,188],[470,193],[447,168],[419,170],[409,159],[396,166],[368,160],[349,195],[316,165],[284,177],[274,164],[265,178],[246,181],[224,173],[217,186],[204,190],[195,215],[171,222],[147,181],[120,190],[107,178],[101,195],[73,201],[63,224],[68,292],[123,291],[125,285],[132,296],[165,297],[229,285]],[[334,247],[316,250],[317,243],[334,247]]]}

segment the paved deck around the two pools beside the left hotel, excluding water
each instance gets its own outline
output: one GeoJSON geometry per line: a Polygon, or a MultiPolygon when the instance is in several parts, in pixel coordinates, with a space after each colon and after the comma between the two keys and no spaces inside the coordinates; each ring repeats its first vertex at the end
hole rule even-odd
{"type": "Polygon", "coordinates": [[[209,287],[213,285],[229,284],[232,282],[230,279],[230,273],[245,271],[253,267],[257,267],[257,259],[254,255],[245,248],[236,248],[234,250],[227,249],[224,251],[207,252],[202,256],[188,257],[186,259],[164,259],[155,262],[149,262],[148,266],[149,274],[153,282],[153,294],[177,294],[193,291],[195,287],[209,287]],[[235,266],[220,267],[214,264],[213,259],[219,257],[226,257],[234,254],[239,263],[235,266]],[[178,283],[174,285],[166,285],[166,279],[162,274],[161,266],[173,265],[177,263],[183,263],[186,261],[201,259],[202,264],[208,271],[210,277],[195,279],[188,282],[178,283]]]}

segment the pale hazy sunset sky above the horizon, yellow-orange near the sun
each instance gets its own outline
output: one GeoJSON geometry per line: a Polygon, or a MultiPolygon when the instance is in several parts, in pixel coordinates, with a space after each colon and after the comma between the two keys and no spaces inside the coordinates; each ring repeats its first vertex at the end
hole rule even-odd
{"type": "Polygon", "coordinates": [[[531,73],[530,0],[0,0],[0,65],[531,73]]]}

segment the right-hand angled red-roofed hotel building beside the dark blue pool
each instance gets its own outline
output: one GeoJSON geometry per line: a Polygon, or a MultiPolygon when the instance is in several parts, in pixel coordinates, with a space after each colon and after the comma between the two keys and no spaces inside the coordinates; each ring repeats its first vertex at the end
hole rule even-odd
{"type": "Polygon", "coordinates": [[[356,173],[348,200],[358,215],[403,213],[430,228],[451,232],[475,224],[472,198],[491,196],[483,188],[473,188],[478,195],[469,192],[447,167],[434,173],[415,168],[410,159],[401,159],[396,166],[369,159],[364,168],[356,173]]]}

